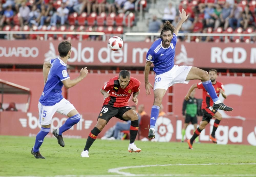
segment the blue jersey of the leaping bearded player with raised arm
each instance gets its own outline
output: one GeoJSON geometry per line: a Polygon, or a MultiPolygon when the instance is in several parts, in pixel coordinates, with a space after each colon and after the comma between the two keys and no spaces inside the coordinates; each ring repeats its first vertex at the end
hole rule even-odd
{"type": "Polygon", "coordinates": [[[163,74],[174,66],[175,46],[177,36],[173,33],[171,44],[168,48],[162,46],[162,39],[156,40],[147,52],[146,60],[153,62],[156,74],[163,74]]]}

